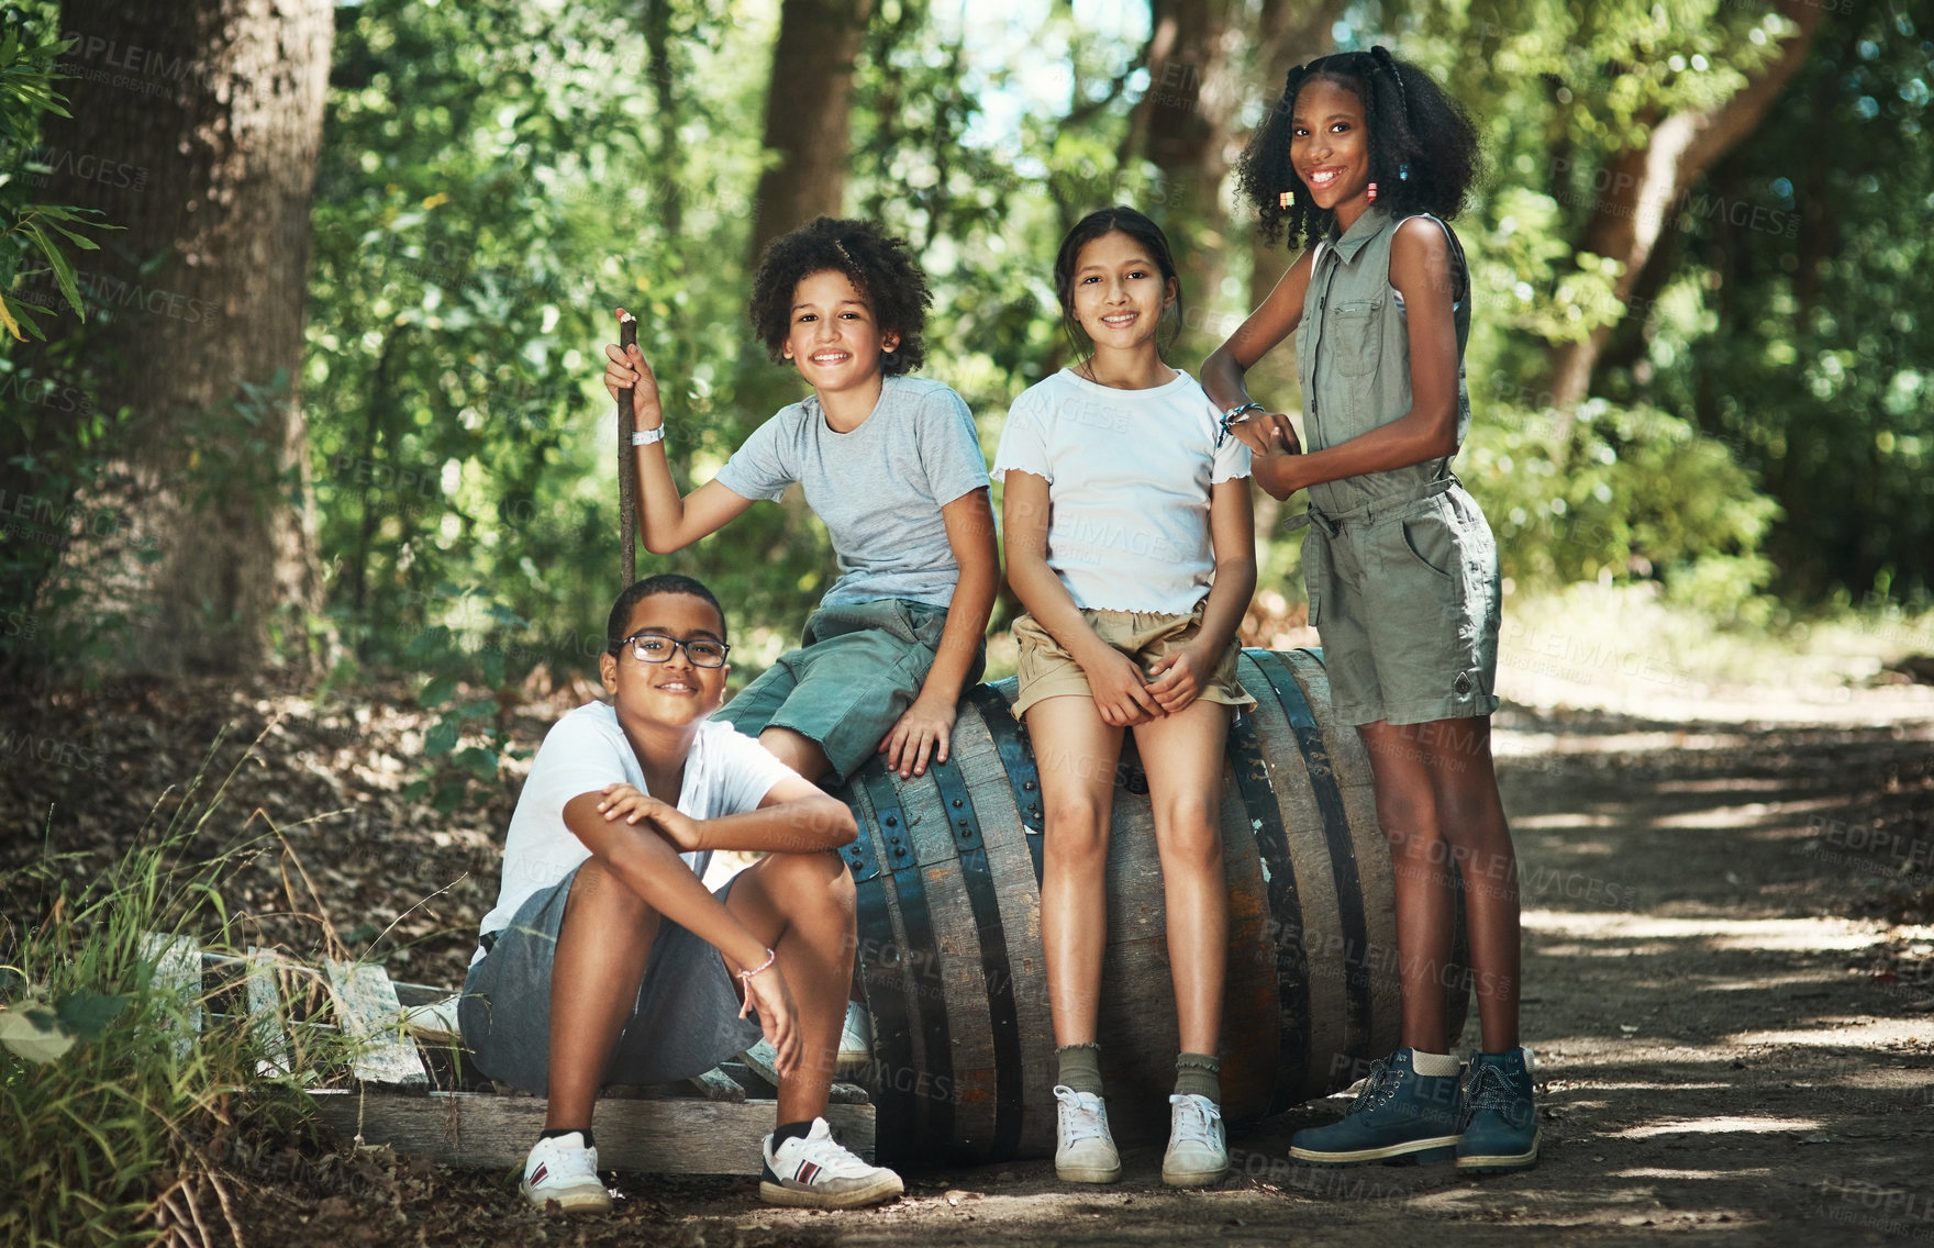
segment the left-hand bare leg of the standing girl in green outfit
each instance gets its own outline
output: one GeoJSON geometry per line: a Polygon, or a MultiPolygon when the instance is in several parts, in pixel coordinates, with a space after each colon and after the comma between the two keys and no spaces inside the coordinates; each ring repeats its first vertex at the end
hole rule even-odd
{"type": "Polygon", "coordinates": [[[1437,795],[1406,729],[1377,720],[1358,728],[1358,733],[1369,747],[1377,820],[1391,846],[1396,884],[1402,1045],[1449,1053],[1443,975],[1450,962],[1450,855],[1437,830],[1437,795]]]}

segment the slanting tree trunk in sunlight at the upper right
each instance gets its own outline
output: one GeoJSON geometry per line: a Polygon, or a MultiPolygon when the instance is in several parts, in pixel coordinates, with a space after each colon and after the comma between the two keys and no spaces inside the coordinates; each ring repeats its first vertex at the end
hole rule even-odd
{"type": "MultiPolygon", "coordinates": [[[[1686,190],[1714,161],[1752,134],[1806,60],[1822,8],[1810,0],[1779,0],[1779,12],[1799,31],[1777,58],[1748,75],[1739,93],[1710,110],[1656,120],[1644,147],[1619,153],[1607,166],[1607,192],[1596,199],[1578,250],[1623,265],[1613,286],[1621,300],[1632,294],[1632,284],[1686,190]]],[[[1551,348],[1551,393],[1561,412],[1561,437],[1570,433],[1578,402],[1592,389],[1592,373],[1613,329],[1599,325],[1584,341],[1551,348]]]]}

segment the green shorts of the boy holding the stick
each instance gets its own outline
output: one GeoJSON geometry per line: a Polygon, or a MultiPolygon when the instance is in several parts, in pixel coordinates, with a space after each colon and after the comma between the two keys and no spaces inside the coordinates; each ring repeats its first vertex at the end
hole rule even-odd
{"type": "MultiPolygon", "coordinates": [[[[820,608],[787,650],[714,718],[748,737],[789,728],[826,751],[843,784],[913,706],[940,650],[948,609],[880,598],[820,608]]],[[[967,681],[981,679],[986,642],[967,681]]]]}

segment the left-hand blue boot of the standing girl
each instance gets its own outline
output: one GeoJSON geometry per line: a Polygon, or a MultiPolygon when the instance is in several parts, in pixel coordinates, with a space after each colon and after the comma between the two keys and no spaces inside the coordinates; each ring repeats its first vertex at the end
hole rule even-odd
{"type": "Polygon", "coordinates": [[[1369,1080],[1338,1122],[1290,1138],[1290,1157],[1305,1165],[1387,1165],[1450,1161],[1456,1155],[1456,1076],[1425,1076],[1412,1051],[1371,1062],[1369,1080]]]}

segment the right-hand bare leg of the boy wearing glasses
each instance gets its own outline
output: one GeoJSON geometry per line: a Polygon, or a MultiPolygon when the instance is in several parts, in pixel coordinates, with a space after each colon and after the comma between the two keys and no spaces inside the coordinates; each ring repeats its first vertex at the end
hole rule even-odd
{"type": "Polygon", "coordinates": [[[853,985],[853,877],[837,853],[770,853],[739,875],[725,907],[777,954],[799,1006],[805,1045],[799,1068],[779,1080],[779,1122],[818,1118],[853,985]]]}

